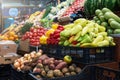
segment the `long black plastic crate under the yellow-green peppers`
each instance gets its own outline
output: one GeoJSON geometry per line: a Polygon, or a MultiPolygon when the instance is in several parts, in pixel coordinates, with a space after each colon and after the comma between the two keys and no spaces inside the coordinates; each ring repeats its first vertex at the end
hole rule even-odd
{"type": "Polygon", "coordinates": [[[114,61],[115,56],[115,46],[80,48],[42,45],[41,49],[45,54],[49,54],[57,58],[63,58],[65,55],[70,55],[73,61],[83,64],[111,62],[114,61]]]}

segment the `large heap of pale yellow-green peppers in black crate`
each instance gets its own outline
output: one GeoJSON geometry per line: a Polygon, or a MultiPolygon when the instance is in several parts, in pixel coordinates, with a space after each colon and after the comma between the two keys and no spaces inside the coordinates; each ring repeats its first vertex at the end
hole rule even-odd
{"type": "Polygon", "coordinates": [[[103,47],[115,45],[105,27],[84,18],[64,26],[60,33],[60,45],[77,47],[103,47]]]}

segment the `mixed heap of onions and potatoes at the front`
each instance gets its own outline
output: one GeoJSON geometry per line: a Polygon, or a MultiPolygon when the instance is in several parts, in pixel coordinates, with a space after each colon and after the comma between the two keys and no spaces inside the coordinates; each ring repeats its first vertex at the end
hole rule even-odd
{"type": "Polygon", "coordinates": [[[42,51],[31,52],[15,60],[14,67],[19,71],[31,70],[37,73],[38,78],[55,78],[76,75],[81,72],[81,68],[76,64],[68,64],[64,60],[42,55],[42,51]]]}

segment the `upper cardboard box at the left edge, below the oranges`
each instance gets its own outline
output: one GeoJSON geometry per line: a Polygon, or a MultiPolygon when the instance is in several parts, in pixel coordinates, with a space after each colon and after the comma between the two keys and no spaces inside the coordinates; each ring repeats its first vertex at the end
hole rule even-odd
{"type": "Polygon", "coordinates": [[[17,44],[13,41],[0,41],[0,56],[4,56],[8,53],[16,53],[17,44]]]}

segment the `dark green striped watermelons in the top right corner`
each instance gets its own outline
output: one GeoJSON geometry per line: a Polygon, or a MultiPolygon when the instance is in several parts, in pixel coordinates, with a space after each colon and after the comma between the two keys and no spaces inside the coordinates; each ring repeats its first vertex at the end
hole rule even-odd
{"type": "Polygon", "coordinates": [[[94,15],[96,9],[107,7],[110,10],[115,10],[115,7],[117,7],[116,5],[120,5],[119,0],[86,0],[84,10],[86,15],[90,17],[94,15]]]}

